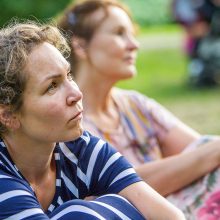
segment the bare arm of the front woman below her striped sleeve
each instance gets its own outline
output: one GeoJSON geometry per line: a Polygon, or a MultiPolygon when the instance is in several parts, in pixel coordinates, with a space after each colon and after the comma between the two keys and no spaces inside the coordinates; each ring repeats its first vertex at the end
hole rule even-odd
{"type": "Polygon", "coordinates": [[[154,191],[145,182],[134,183],[120,193],[127,198],[148,220],[184,220],[183,213],[154,191]]]}

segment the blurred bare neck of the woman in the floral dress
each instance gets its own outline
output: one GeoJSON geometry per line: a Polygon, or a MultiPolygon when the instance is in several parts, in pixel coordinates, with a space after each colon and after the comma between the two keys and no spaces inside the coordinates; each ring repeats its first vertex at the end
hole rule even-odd
{"type": "MultiPolygon", "coordinates": [[[[78,73],[77,75],[80,76],[77,78],[77,84],[84,94],[84,116],[101,130],[103,128],[105,131],[117,129],[120,118],[112,96],[114,82],[104,78],[104,73],[84,70],[82,74],[78,73]]],[[[86,123],[84,126],[87,129],[86,123]]]]}

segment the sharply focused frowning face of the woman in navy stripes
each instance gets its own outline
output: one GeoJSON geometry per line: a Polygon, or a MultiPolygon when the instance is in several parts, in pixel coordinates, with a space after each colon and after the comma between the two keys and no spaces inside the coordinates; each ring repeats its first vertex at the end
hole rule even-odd
{"type": "Polygon", "coordinates": [[[39,142],[76,139],[82,134],[82,93],[70,66],[51,44],[30,53],[24,69],[27,84],[18,114],[21,133],[39,142]]]}

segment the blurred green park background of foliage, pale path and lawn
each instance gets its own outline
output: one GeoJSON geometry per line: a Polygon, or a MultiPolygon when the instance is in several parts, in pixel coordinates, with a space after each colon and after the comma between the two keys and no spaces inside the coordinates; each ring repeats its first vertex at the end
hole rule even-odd
{"type": "MultiPolygon", "coordinates": [[[[183,47],[185,31],[174,21],[171,0],[121,0],[140,30],[138,74],[117,86],[136,89],[166,106],[201,133],[220,134],[219,86],[188,84],[189,59],[183,47]]],[[[49,22],[71,0],[0,0],[0,26],[12,18],[49,22]]]]}

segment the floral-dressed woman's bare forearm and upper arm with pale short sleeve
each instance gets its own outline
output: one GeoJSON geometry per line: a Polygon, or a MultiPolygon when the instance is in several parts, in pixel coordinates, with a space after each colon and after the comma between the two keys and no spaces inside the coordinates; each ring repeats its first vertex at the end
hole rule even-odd
{"type": "Polygon", "coordinates": [[[149,185],[163,196],[168,195],[206,175],[220,164],[219,141],[210,143],[210,146],[208,143],[203,144],[204,147],[200,146],[200,149],[185,154],[184,150],[199,140],[201,135],[154,100],[144,97],[142,100],[152,117],[163,157],[162,160],[136,167],[138,174],[149,185]]]}

